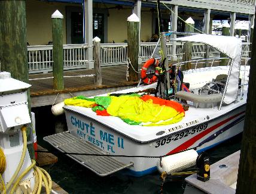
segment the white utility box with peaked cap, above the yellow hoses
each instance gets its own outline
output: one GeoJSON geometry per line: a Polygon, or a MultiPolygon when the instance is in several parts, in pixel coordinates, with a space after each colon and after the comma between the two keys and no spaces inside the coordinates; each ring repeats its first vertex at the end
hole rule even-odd
{"type": "Polygon", "coordinates": [[[0,72],[0,132],[31,123],[26,92],[29,87],[28,83],[11,78],[10,73],[0,72]]]}

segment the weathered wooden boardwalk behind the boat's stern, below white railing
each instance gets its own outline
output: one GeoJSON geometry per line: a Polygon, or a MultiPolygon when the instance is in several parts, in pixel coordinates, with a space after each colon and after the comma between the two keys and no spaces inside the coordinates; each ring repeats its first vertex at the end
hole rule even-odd
{"type": "MultiPolygon", "coordinates": [[[[65,77],[64,90],[53,90],[53,78],[41,79],[44,77],[53,77],[53,73],[30,74],[29,79],[41,79],[29,81],[29,84],[32,85],[30,89],[31,107],[52,105],[55,99],[56,104],[66,98],[71,98],[72,95],[93,96],[136,86],[138,82],[126,81],[126,69],[127,65],[102,67],[102,86],[95,85],[94,77],[65,77]]],[[[94,74],[94,70],[80,69],[64,72],[64,76],[90,74],[94,74]]]]}

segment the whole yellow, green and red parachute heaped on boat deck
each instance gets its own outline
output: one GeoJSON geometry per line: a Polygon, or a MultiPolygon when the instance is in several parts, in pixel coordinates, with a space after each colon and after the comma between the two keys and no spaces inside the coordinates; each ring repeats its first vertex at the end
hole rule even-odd
{"type": "Polygon", "coordinates": [[[162,126],[177,123],[185,115],[182,105],[150,95],[77,96],[66,99],[65,105],[92,108],[97,115],[120,117],[128,124],[162,126]]]}

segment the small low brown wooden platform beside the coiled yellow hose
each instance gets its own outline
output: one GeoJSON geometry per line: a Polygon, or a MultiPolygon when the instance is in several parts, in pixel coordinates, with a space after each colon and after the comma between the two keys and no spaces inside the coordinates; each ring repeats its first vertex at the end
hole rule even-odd
{"type": "MultiPolygon", "coordinates": [[[[42,148],[38,145],[38,150],[40,151],[47,151],[47,149],[42,148]]],[[[54,164],[58,161],[58,158],[51,154],[51,153],[37,153],[37,159],[36,162],[38,163],[39,167],[42,167],[44,165],[54,164]]]]}

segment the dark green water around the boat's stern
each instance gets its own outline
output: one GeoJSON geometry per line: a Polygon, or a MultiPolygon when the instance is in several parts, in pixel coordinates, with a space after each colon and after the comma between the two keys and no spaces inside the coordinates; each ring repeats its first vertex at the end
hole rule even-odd
{"type": "MultiPolygon", "coordinates": [[[[54,117],[51,107],[33,108],[36,117],[36,133],[38,144],[55,152],[52,146],[42,140],[42,137],[66,129],[65,116],[54,117]],[[56,125],[56,123],[62,123],[56,125]]],[[[210,149],[208,154],[211,163],[214,163],[240,149],[241,136],[234,137],[227,142],[210,149]]],[[[144,177],[126,176],[124,173],[115,173],[107,177],[99,177],[92,171],[78,164],[74,160],[62,154],[55,154],[59,161],[56,164],[45,167],[51,178],[69,193],[160,193],[159,173],[144,177]]],[[[184,180],[166,182],[163,193],[183,193],[184,180]]]]}

